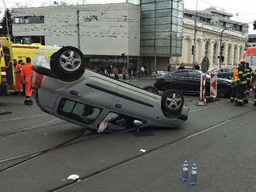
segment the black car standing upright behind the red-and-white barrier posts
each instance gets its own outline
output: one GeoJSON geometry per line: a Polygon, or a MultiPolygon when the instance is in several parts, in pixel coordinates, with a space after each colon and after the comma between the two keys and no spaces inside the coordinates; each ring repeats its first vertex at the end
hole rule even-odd
{"type": "MultiPolygon", "coordinates": [[[[154,87],[158,91],[168,91],[176,89],[186,94],[199,94],[200,92],[200,70],[174,70],[161,77],[157,77],[154,87]]],[[[210,77],[206,75],[206,94],[209,94],[210,77]]],[[[228,79],[217,78],[217,96],[220,98],[229,98],[232,92],[232,81],[228,79]]]]}

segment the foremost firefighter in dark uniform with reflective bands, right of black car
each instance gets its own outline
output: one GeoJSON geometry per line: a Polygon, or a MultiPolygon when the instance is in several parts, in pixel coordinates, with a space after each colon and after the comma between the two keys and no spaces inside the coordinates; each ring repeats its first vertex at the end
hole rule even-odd
{"type": "Polygon", "coordinates": [[[240,62],[240,66],[238,69],[238,78],[237,78],[237,94],[236,98],[234,98],[234,102],[236,106],[242,106],[247,104],[246,98],[246,85],[247,85],[247,74],[244,72],[244,61],[240,62]]]}

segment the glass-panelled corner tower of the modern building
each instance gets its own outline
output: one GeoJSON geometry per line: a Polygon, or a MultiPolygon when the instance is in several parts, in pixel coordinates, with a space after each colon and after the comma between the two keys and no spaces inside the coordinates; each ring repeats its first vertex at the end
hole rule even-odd
{"type": "Polygon", "coordinates": [[[141,56],[182,56],[183,1],[140,0],[141,56]]]}

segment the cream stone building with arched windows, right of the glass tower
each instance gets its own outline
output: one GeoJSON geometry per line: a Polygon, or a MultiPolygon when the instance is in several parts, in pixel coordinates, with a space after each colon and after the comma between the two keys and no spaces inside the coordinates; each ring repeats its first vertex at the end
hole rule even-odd
{"type": "Polygon", "coordinates": [[[209,58],[210,67],[219,66],[220,34],[223,31],[223,57],[221,67],[234,67],[242,58],[244,45],[247,41],[247,24],[230,20],[230,13],[209,8],[200,12],[184,10],[183,50],[182,57],[172,58],[171,62],[192,65],[192,46],[194,45],[196,18],[196,50],[195,63],[200,64],[202,58],[209,58]],[[229,28],[230,29],[227,29],[229,28]]]}

